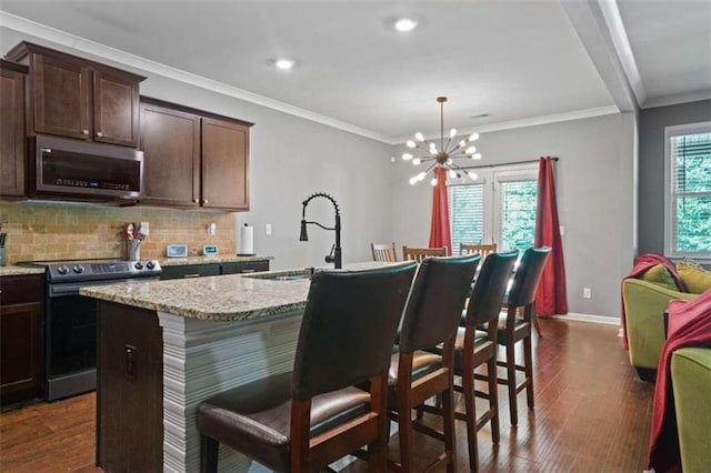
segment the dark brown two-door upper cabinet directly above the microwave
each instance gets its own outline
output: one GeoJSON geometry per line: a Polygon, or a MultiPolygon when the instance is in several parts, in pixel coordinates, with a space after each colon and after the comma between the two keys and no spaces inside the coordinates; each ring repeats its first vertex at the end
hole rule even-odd
{"type": "Polygon", "coordinates": [[[29,67],[29,135],[138,147],[143,77],[28,42],[7,58],[29,67]]]}

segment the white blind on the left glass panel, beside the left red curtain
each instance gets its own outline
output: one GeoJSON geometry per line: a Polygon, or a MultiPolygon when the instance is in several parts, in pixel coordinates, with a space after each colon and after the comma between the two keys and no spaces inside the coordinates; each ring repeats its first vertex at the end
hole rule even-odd
{"type": "Polygon", "coordinates": [[[460,244],[478,244],[484,235],[484,185],[467,184],[447,188],[452,232],[452,254],[460,244]]]}

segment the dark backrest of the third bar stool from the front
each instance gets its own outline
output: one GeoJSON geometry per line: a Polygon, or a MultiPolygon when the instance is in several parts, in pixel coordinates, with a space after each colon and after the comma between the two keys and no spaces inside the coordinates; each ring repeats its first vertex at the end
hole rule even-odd
{"type": "Polygon", "coordinates": [[[501,301],[513,275],[513,264],[518,255],[518,251],[491,253],[484,260],[469,296],[467,325],[480,325],[499,316],[501,301]]]}

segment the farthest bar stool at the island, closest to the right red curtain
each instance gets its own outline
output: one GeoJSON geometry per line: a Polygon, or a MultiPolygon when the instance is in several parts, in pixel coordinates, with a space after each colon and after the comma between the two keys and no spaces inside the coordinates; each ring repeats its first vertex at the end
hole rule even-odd
{"type": "MultiPolygon", "coordinates": [[[[499,319],[497,343],[505,346],[505,360],[499,360],[497,364],[505,366],[507,378],[498,378],[497,382],[508,388],[511,425],[519,422],[515,400],[521,391],[525,390],[529,409],[534,407],[531,325],[535,321],[535,291],[550,253],[549,246],[529,248],[523,252],[511,289],[504,295],[505,316],[499,319]],[[515,362],[515,344],[520,341],[523,342],[523,364],[515,362]],[[521,383],[517,383],[517,371],[524,373],[521,383]]],[[[475,378],[484,379],[480,374],[475,378]]]]}

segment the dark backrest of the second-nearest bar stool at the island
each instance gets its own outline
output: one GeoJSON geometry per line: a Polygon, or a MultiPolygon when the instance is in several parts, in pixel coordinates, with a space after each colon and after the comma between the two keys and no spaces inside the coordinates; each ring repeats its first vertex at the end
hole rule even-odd
{"type": "Polygon", "coordinates": [[[457,332],[479,258],[427,258],[420,263],[404,311],[400,352],[434,346],[457,332]]]}

